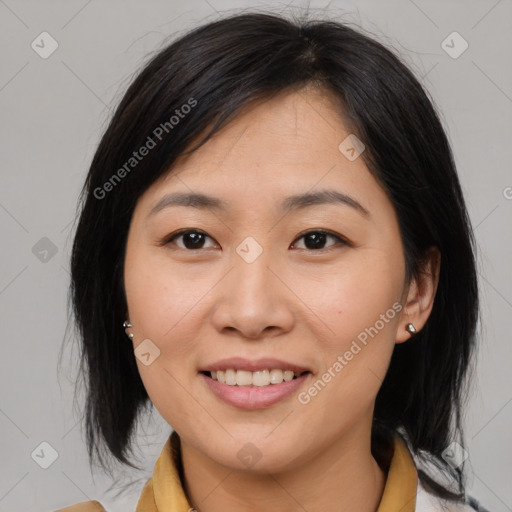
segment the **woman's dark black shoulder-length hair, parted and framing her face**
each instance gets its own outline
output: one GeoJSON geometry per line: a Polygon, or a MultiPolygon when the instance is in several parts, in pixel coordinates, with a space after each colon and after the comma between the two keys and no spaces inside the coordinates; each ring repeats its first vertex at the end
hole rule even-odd
{"type": "Polygon", "coordinates": [[[244,107],[308,86],[339,100],[364,143],[361,158],[397,214],[406,282],[424,272],[429,250],[442,256],[431,314],[412,340],[395,345],[376,397],[372,453],[388,467],[392,438],[401,435],[419,460],[456,484],[450,489],[418,471],[430,492],[461,500],[463,466],[452,467],[443,451],[454,440],[463,444],[479,300],[475,240],[452,151],[434,102],[398,55],[347,23],[307,17],[250,12],[194,28],[151,56],[113,113],[80,194],[71,254],[89,459],[96,455],[105,469],[106,453],[136,467],[127,454],[141,409],[150,406],[122,327],[137,200],[244,107]],[[133,161],[150,139],[154,147],[133,161]]]}

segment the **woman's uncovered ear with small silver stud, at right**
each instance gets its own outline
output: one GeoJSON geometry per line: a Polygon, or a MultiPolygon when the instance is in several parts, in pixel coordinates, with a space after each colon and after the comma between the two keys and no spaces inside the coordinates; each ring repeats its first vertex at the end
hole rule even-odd
{"type": "Polygon", "coordinates": [[[407,298],[400,315],[396,343],[403,343],[414,336],[405,328],[408,323],[413,324],[417,332],[426,324],[434,306],[440,268],[441,253],[437,247],[431,247],[425,255],[419,276],[411,278],[409,283],[407,298]]]}

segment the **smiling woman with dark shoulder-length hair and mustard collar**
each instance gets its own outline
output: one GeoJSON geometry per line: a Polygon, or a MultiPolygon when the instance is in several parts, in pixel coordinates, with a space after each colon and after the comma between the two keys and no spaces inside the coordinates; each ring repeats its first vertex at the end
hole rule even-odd
{"type": "Polygon", "coordinates": [[[133,466],[149,404],[173,429],[137,512],[483,510],[461,428],[474,240],[390,50],[333,21],[199,27],[133,81],[82,199],[89,455],[133,466]]]}

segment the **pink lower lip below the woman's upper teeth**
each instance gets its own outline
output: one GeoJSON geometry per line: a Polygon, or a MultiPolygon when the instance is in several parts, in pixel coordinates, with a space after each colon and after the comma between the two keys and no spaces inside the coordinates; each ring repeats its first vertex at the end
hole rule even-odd
{"type": "Polygon", "coordinates": [[[268,386],[230,386],[200,373],[210,390],[221,400],[240,409],[263,409],[285,399],[304,384],[310,373],[268,386]]]}

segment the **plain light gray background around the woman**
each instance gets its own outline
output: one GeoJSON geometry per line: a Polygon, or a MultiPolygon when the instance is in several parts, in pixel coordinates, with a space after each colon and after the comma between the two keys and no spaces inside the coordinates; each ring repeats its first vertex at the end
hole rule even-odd
{"type": "MultiPolygon", "coordinates": [[[[308,3],[289,5],[300,13],[308,3]]],[[[479,246],[480,348],[465,423],[469,490],[491,511],[512,510],[512,2],[309,6],[327,8],[329,16],[393,46],[441,111],[479,246]],[[469,44],[458,58],[441,46],[453,31],[469,44]]],[[[123,509],[106,494],[112,482],[89,471],[73,409],[77,351],[69,341],[63,369],[57,368],[77,197],[110,111],[148,53],[169,35],[253,7],[285,5],[0,0],[0,512],[47,511],[87,499],[112,511],[134,510],[135,497],[123,509]],[[47,59],[31,47],[43,31],[58,43],[47,59]],[[41,453],[42,442],[58,454],[47,469],[31,456],[41,453]]],[[[151,475],[168,434],[157,413],[140,426],[136,444],[146,472],[119,472],[139,479],[132,496],[151,475]]]]}

